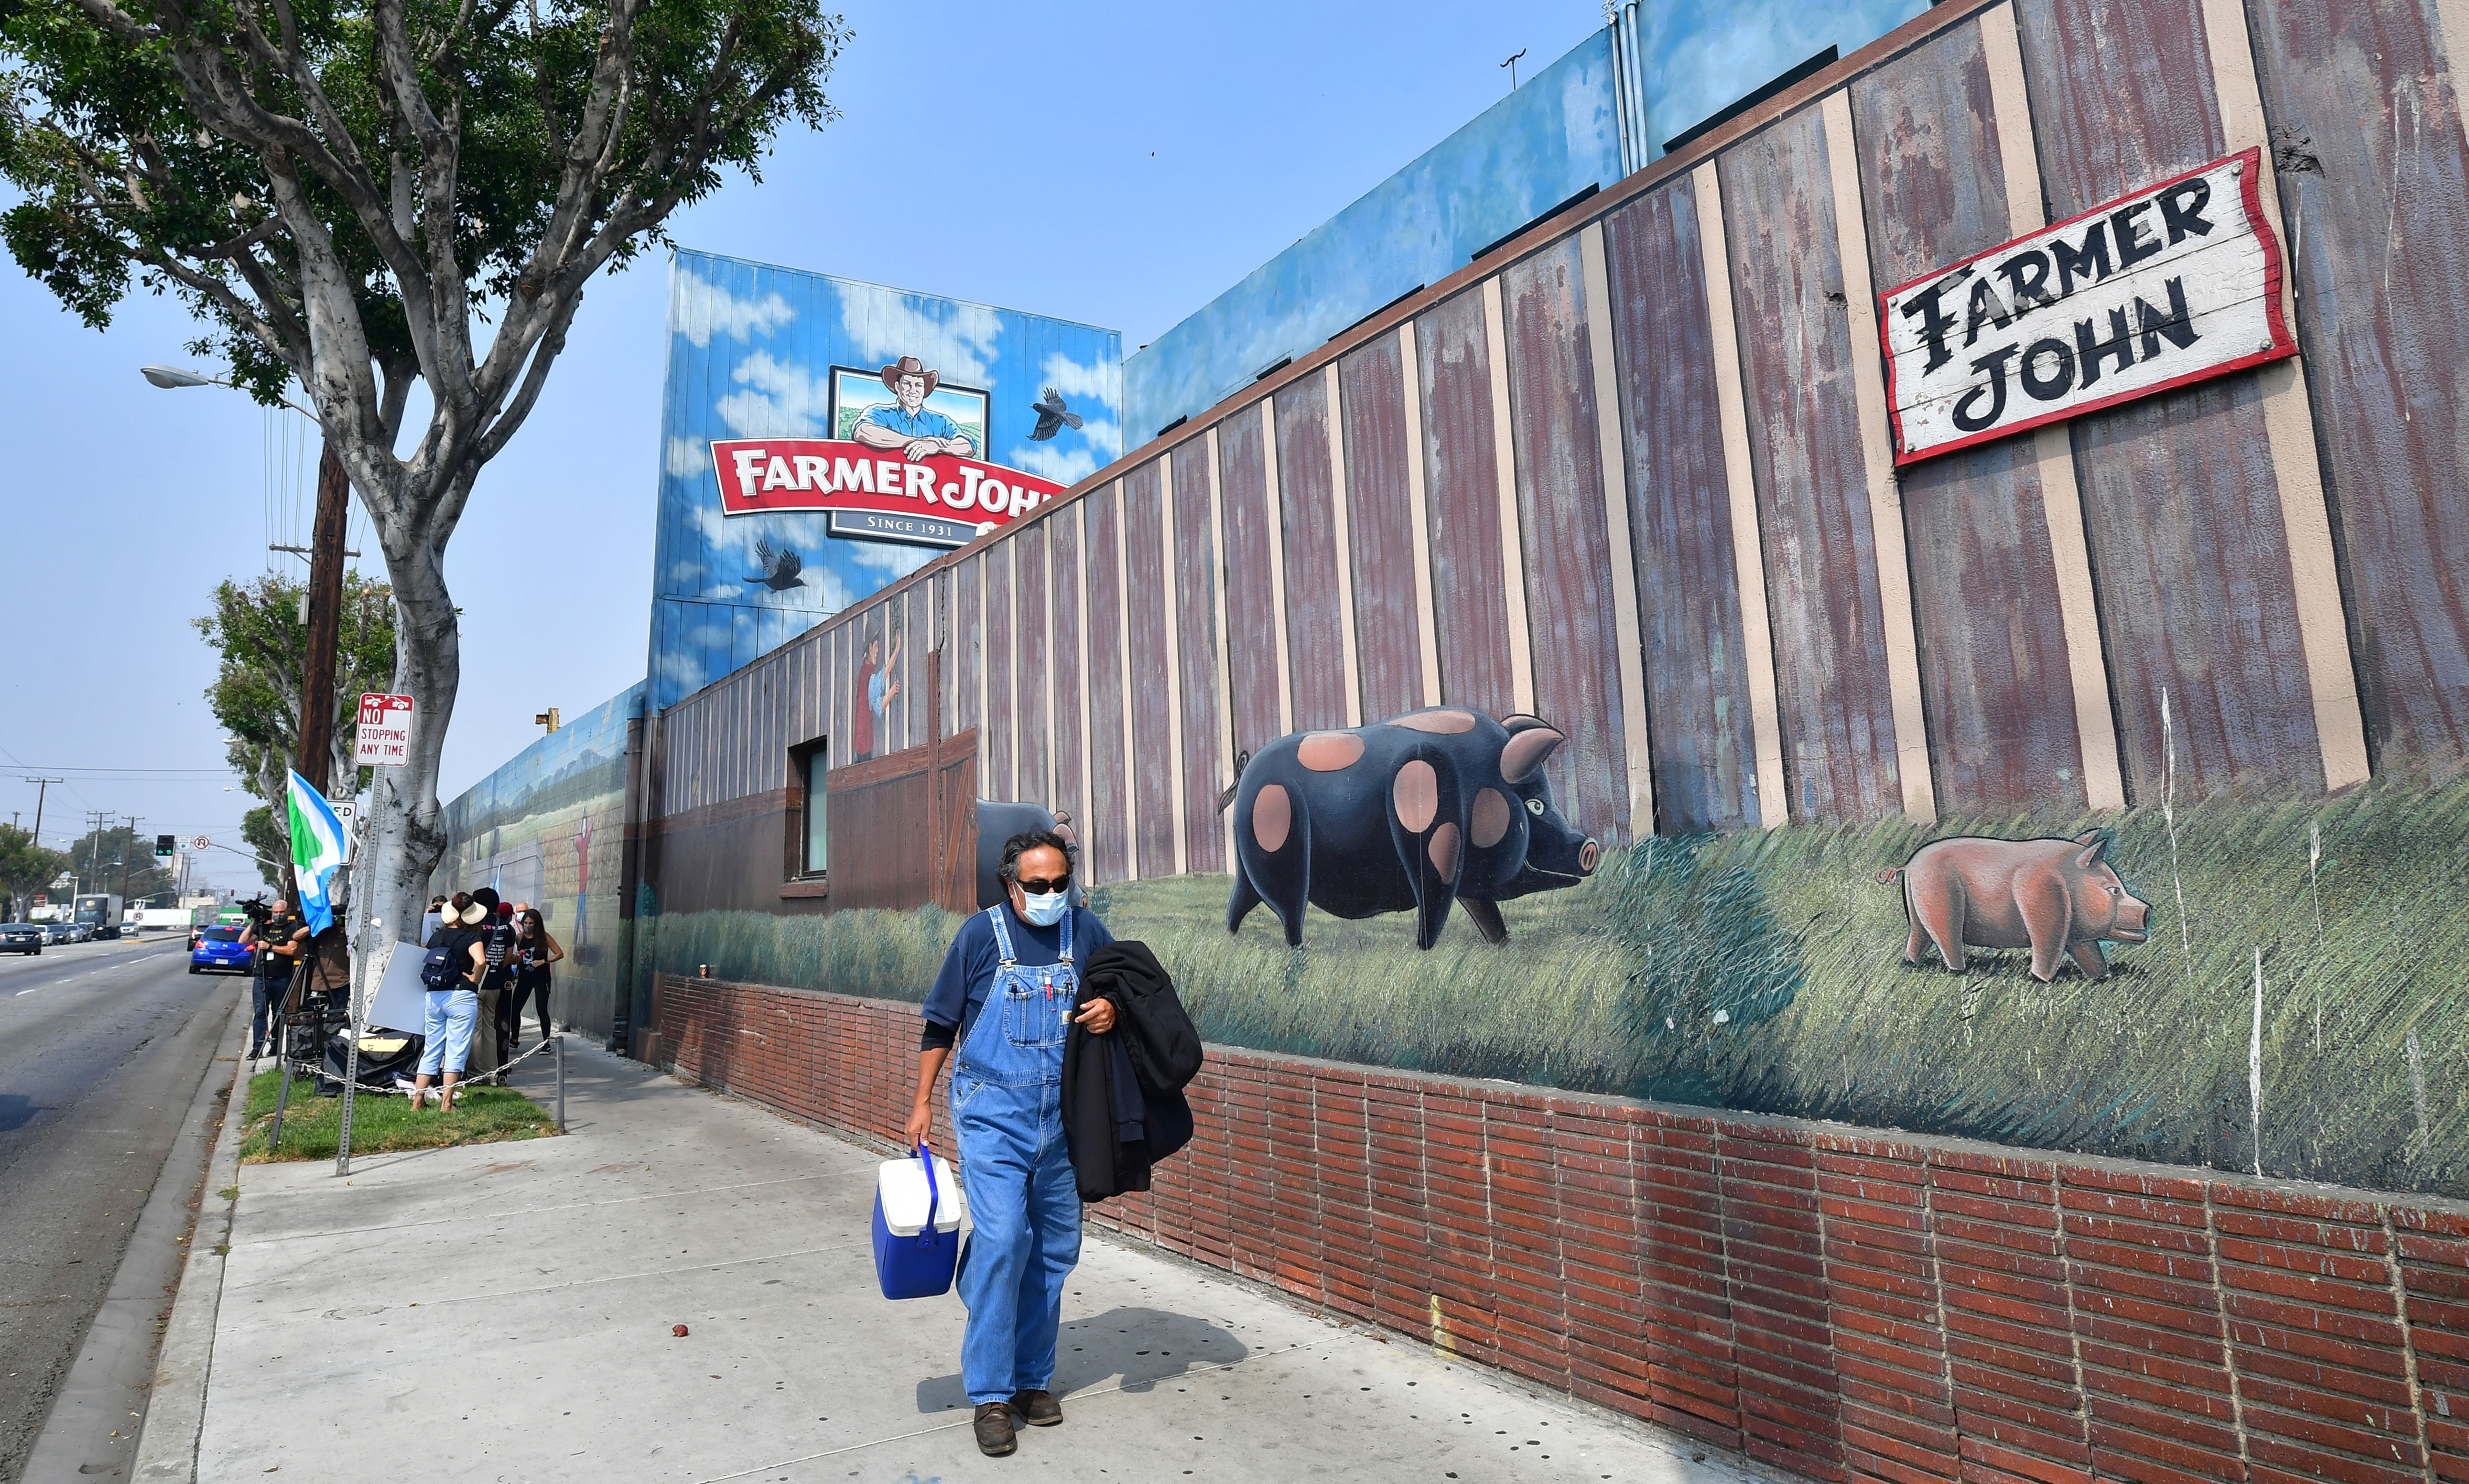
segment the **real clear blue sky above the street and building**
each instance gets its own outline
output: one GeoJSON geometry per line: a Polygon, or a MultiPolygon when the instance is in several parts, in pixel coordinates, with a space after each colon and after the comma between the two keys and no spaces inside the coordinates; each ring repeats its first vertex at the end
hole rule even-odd
{"type": "MultiPolygon", "coordinates": [[[[1504,57],[1526,47],[1531,72],[1602,25],[1593,0],[847,15],[830,84],[844,119],[785,138],[760,188],[733,178],[681,212],[677,242],[1111,326],[1126,351],[1501,99],[1504,57]],[[886,230],[894,215],[852,205],[881,202],[901,160],[960,185],[909,200],[886,230]]],[[[642,677],[667,291],[659,254],[590,289],[454,536],[464,682],[447,798],[538,736],[533,711],[578,714],[642,677]]],[[[212,659],[188,620],[215,580],[269,561],[264,417],[235,393],[138,380],[148,361],[190,361],[195,331],[165,301],[131,299],[94,333],[7,264],[0,326],[0,817],[32,820],[20,773],[77,765],[89,773],[52,790],[52,844],[89,807],[237,840],[244,795],[222,793],[200,699],[212,659]]],[[[304,504],[309,472],[274,504],[304,504]]],[[[227,862],[207,879],[254,882],[239,857],[207,859],[227,862]]]]}

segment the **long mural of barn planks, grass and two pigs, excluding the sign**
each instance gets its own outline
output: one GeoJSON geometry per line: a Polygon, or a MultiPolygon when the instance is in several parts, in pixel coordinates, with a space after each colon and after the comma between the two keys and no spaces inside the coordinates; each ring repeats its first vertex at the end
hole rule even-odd
{"type": "Polygon", "coordinates": [[[1222,1044],[2469,1198],[2432,25],[1931,10],[677,699],[639,970],[916,1000],[780,844],[936,741],[1222,1044]],[[1884,289],[2249,148],[2296,356],[1896,467],[1884,289]]]}

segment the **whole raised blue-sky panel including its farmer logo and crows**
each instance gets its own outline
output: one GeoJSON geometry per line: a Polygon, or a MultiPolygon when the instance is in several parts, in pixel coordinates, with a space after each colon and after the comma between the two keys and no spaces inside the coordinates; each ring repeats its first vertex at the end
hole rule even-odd
{"type": "Polygon", "coordinates": [[[1116,331],[679,249],[649,704],[1111,462],[1121,407],[1116,331]]]}

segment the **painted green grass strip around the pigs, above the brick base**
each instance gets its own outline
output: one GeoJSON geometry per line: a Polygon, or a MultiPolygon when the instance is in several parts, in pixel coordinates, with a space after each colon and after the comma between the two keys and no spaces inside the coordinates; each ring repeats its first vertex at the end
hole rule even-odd
{"type": "MultiPolygon", "coordinates": [[[[2168,1163],[2259,1153],[2274,1175],[2469,1195],[2469,780],[2215,798],[2175,832],[2175,877],[2160,810],[1654,840],[1504,904],[1506,946],[1452,919],[1430,953],[1405,916],[1311,914],[1289,951],[1259,909],[1227,936],[1225,877],[1114,884],[1091,906],[1155,948],[1225,1044],[2168,1163]],[[2104,983],[2067,968],[2042,985],[2025,953],[1975,953],[1963,975],[1901,963],[1881,867],[1946,835],[2089,827],[2113,832],[2155,914],[2150,943],[2109,946],[2104,983]]],[[[918,1000],[956,926],[691,914],[659,919],[657,961],[918,1000]]]]}

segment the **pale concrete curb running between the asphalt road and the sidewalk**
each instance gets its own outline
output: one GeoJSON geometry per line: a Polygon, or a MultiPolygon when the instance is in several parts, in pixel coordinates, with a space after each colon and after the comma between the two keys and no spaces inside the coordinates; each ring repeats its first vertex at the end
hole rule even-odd
{"type": "MultiPolygon", "coordinates": [[[[131,1479],[173,1484],[198,1479],[205,1378],[215,1363],[215,1316],[222,1309],[222,1259],[230,1252],[232,1215],[239,1205],[237,1198],[222,1200],[217,1193],[239,1185],[239,1136],[249,1114],[249,1089],[242,1082],[247,1037],[249,1005],[242,1000],[232,1012],[225,1047],[220,1047],[232,1054],[232,1096],[222,1111],[215,1156],[205,1165],[205,1185],[198,1190],[198,1225],[188,1240],[188,1262],[180,1267],[180,1294],[173,1299],[170,1324],[163,1326],[163,1353],[156,1361],[138,1452],[128,1464],[131,1479]]],[[[212,1084],[212,1074],[207,1074],[207,1084],[212,1084]]]]}

